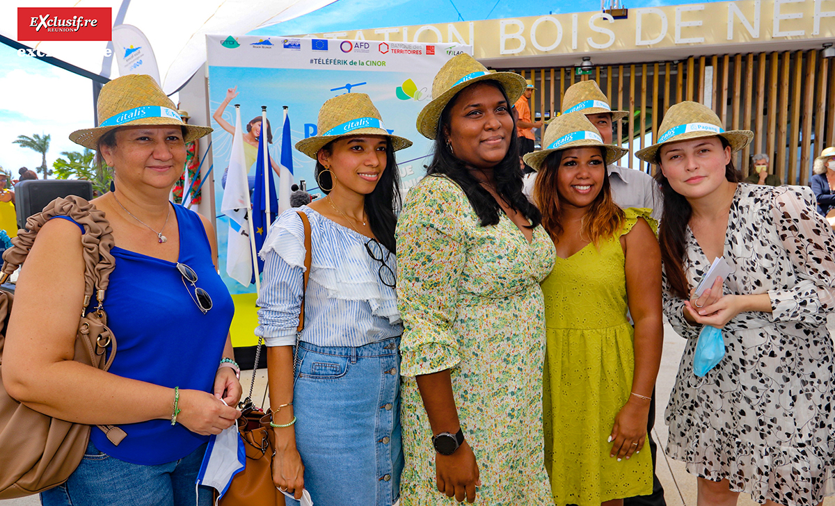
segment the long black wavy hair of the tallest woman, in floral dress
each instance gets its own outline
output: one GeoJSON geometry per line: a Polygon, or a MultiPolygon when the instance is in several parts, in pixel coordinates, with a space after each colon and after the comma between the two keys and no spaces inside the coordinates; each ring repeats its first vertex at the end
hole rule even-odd
{"type": "MultiPolygon", "coordinates": [[[[498,91],[502,93],[504,100],[508,103],[508,108],[513,106],[508,99],[508,94],[504,93],[504,88],[498,81],[489,79],[479,81],[478,83],[488,83],[498,88],[498,91]]],[[[441,118],[438,121],[438,130],[435,133],[434,156],[432,163],[429,163],[426,173],[428,176],[436,177],[443,174],[455,183],[458,183],[458,186],[467,195],[470,205],[473,206],[473,210],[478,214],[478,218],[481,220],[481,226],[497,225],[498,213],[501,211],[498,202],[493,198],[493,195],[482,187],[478,179],[473,176],[472,168],[469,168],[462,160],[457,158],[444,141],[446,137],[445,130],[449,128],[450,111],[460,94],[461,92],[458,92],[449,101],[447,107],[443,108],[443,113],[441,113],[441,118]]],[[[513,118],[512,114],[511,118],[513,118]]],[[[515,118],[514,129],[510,133],[508,153],[505,153],[502,161],[493,167],[493,182],[496,184],[496,192],[510,204],[510,208],[524,214],[524,217],[529,219],[531,223],[529,228],[534,228],[539,225],[542,221],[542,214],[539,213],[539,209],[530,203],[522,193],[522,169],[519,168],[519,141],[516,138],[515,118]]]]}

